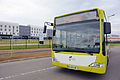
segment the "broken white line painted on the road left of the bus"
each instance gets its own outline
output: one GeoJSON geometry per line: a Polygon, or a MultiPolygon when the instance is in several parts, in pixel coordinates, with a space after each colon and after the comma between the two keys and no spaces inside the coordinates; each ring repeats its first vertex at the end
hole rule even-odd
{"type": "Polygon", "coordinates": [[[45,68],[45,69],[40,69],[40,70],[35,70],[35,71],[30,71],[30,72],[24,72],[24,73],[20,73],[18,75],[15,74],[15,75],[7,76],[7,77],[1,77],[0,80],[15,78],[15,77],[18,77],[18,76],[24,76],[24,75],[28,75],[28,74],[32,74],[32,73],[36,73],[36,72],[41,72],[41,71],[49,70],[49,69],[52,69],[52,68],[56,68],[56,66],[45,68]]]}

